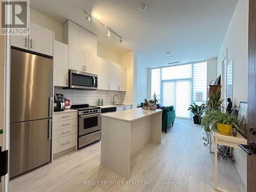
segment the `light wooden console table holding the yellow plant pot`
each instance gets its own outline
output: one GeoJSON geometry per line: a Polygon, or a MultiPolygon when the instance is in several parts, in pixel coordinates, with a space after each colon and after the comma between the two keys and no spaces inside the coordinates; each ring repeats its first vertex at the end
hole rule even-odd
{"type": "Polygon", "coordinates": [[[221,189],[217,186],[217,175],[218,175],[218,144],[219,145],[226,145],[231,147],[240,148],[238,146],[239,143],[247,144],[247,140],[240,134],[237,134],[237,137],[233,137],[231,135],[222,135],[218,132],[213,132],[214,136],[214,143],[215,143],[215,154],[214,154],[214,189],[222,192],[227,192],[227,190],[221,189]]]}

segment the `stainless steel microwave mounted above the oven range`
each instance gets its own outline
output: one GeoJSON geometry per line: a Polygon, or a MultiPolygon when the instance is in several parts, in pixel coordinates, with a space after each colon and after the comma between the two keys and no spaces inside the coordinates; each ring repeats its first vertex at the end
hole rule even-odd
{"type": "Polygon", "coordinates": [[[98,75],[82,71],[69,70],[70,89],[98,89],[98,75]]]}

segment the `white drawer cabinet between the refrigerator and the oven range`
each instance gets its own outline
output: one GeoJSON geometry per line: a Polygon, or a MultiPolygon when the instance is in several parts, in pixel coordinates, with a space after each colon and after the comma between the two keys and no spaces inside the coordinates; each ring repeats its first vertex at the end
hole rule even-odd
{"type": "Polygon", "coordinates": [[[54,112],[52,124],[53,154],[76,146],[77,111],[54,112]]]}

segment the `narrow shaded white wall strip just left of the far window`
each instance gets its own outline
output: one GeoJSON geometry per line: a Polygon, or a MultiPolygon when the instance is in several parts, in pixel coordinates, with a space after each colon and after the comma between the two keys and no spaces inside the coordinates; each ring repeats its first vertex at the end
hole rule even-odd
{"type": "Polygon", "coordinates": [[[137,105],[144,102],[147,98],[147,68],[142,65],[138,65],[138,78],[137,78],[137,105]]]}

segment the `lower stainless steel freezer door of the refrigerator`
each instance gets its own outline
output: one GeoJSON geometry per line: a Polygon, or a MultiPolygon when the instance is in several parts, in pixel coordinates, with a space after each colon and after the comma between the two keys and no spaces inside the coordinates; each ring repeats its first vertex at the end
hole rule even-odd
{"type": "Polygon", "coordinates": [[[50,162],[50,121],[10,123],[10,178],[50,162]]]}

